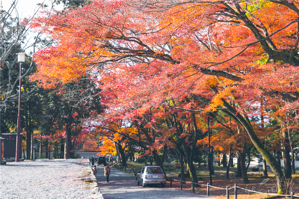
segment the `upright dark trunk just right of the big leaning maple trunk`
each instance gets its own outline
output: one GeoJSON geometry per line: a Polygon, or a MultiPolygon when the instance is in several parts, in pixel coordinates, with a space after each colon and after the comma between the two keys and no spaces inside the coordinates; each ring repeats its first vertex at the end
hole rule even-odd
{"type": "Polygon", "coordinates": [[[292,165],[291,165],[291,157],[290,157],[290,144],[289,144],[289,138],[287,136],[286,131],[282,131],[282,137],[283,137],[283,165],[284,165],[284,175],[286,178],[292,177],[292,165]]]}

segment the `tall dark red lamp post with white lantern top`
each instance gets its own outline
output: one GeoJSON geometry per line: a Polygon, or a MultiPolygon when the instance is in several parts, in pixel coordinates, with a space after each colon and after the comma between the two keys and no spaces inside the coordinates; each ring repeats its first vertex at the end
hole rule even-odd
{"type": "Polygon", "coordinates": [[[22,87],[22,64],[25,62],[25,53],[16,53],[18,55],[18,62],[20,63],[20,84],[19,84],[19,114],[17,123],[17,140],[16,140],[16,162],[19,162],[20,154],[20,132],[21,132],[21,87],[22,87]]]}

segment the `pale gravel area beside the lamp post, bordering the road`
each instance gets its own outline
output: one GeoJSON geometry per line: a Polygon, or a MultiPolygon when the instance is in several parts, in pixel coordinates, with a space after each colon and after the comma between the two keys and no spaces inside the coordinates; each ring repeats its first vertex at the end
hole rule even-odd
{"type": "MultiPolygon", "coordinates": [[[[8,162],[0,166],[0,198],[90,198],[86,159],[8,162]]],[[[90,169],[89,169],[90,170],[90,169]]]]}

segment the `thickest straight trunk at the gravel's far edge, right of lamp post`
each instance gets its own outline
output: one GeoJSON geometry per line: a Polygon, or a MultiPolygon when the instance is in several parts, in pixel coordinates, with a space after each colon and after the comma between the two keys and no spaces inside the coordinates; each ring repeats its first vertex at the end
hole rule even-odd
{"type": "Polygon", "coordinates": [[[71,134],[72,134],[72,107],[69,107],[65,121],[65,144],[64,144],[64,159],[71,158],[71,134]]]}

